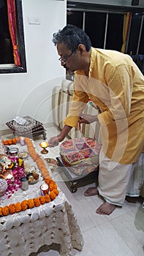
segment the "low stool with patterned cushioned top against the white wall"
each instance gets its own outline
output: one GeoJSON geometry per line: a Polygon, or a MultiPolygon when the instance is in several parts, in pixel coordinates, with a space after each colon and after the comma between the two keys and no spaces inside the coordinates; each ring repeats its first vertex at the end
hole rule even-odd
{"type": "Polygon", "coordinates": [[[26,119],[26,124],[18,124],[15,120],[7,121],[7,126],[12,129],[15,136],[23,136],[34,138],[38,135],[43,135],[44,140],[46,140],[46,131],[43,124],[30,116],[24,116],[26,119]]]}

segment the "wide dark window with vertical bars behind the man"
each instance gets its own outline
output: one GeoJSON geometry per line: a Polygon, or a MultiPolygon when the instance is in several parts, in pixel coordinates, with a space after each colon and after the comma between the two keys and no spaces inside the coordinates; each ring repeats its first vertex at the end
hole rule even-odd
{"type": "Polygon", "coordinates": [[[132,18],[125,53],[144,54],[143,8],[67,1],[67,24],[79,26],[86,31],[94,48],[121,51],[126,12],[131,12],[132,18]]]}

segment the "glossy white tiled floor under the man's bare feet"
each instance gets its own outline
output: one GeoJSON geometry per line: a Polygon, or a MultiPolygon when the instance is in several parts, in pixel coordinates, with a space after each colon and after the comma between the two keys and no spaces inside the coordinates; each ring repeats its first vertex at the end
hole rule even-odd
{"type": "MultiPolygon", "coordinates": [[[[47,138],[57,134],[55,127],[47,129],[47,138]]],[[[39,137],[35,140],[40,150],[39,137]]],[[[46,157],[58,157],[59,150],[50,148],[46,157]]],[[[98,196],[85,197],[83,193],[89,186],[79,187],[71,193],[58,174],[55,174],[58,187],[67,196],[72,205],[77,222],[83,233],[84,246],[82,252],[75,250],[80,256],[143,256],[144,255],[144,208],[140,202],[128,203],[123,208],[116,208],[110,216],[96,214],[96,208],[103,202],[98,196]]],[[[39,252],[31,256],[57,256],[58,246],[43,246],[39,252]]]]}

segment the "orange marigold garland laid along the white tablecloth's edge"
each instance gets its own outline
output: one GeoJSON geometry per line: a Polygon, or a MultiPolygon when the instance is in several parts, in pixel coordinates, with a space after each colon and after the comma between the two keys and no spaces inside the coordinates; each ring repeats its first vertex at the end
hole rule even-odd
{"type": "MultiPolygon", "coordinates": [[[[21,203],[11,203],[10,206],[0,207],[0,217],[7,216],[8,214],[15,214],[15,212],[19,211],[26,211],[28,208],[39,207],[40,205],[43,205],[45,203],[50,203],[50,200],[54,200],[59,194],[56,182],[53,181],[53,179],[50,177],[45,162],[42,161],[39,154],[37,154],[34,150],[31,139],[25,138],[24,141],[28,148],[29,154],[31,155],[31,158],[34,159],[35,162],[37,162],[37,166],[39,167],[39,170],[41,171],[42,176],[45,179],[45,183],[49,186],[50,193],[49,195],[35,197],[34,199],[23,200],[21,203]]],[[[4,145],[12,145],[20,143],[20,138],[3,140],[2,142],[4,145]]]]}

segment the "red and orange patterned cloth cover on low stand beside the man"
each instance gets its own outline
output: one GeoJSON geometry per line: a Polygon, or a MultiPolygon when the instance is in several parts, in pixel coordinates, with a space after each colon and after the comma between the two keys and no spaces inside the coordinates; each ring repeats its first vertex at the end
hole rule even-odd
{"type": "Polygon", "coordinates": [[[92,138],[74,138],[60,145],[61,159],[76,175],[91,173],[99,165],[101,143],[92,138]]]}

